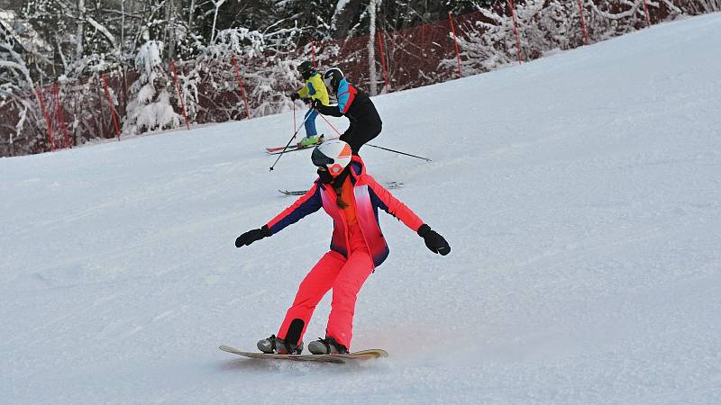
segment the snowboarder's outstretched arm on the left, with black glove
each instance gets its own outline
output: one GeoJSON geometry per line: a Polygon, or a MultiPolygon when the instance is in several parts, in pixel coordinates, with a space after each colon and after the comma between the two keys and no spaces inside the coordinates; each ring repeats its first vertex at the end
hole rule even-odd
{"type": "Polygon", "coordinates": [[[318,211],[323,206],[321,192],[317,184],[298,198],[296,202],[280,212],[275,218],[259,229],[251,229],[235,239],[235,247],[248,246],[256,240],[268,238],[278,233],[280,229],[296,223],[308,214],[318,211]]]}

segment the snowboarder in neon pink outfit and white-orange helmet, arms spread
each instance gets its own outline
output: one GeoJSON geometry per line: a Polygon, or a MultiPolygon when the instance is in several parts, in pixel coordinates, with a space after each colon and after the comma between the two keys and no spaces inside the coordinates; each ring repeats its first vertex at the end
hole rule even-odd
{"type": "Polygon", "coordinates": [[[333,302],[325,338],[311,342],[308,350],[314,355],[348,353],[356,295],[375,267],[388,257],[388,245],[379,228],[379,208],[415,230],[432,252],[443,256],[451,252],[441,235],[366,174],[363,161],[359,156],[351,156],[347,143],[325,141],[314,148],[311,159],[318,167],[318,178],[312,188],[262,228],[249,230],[235,240],[236,247],[248,246],[321,207],[333,218],[330,251],[299,285],[278,336],[271,335],[258,342],[258,348],[264,353],[300,354],[308,321],[330,289],[333,289],[333,302]]]}

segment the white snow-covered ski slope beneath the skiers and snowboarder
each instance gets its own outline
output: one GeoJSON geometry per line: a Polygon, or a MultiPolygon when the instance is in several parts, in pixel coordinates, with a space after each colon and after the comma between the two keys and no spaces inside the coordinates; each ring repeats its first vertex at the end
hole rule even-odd
{"type": "Polygon", "coordinates": [[[276,333],[328,248],[322,211],[233,246],[315,178],[268,170],[291,113],[0,159],[0,403],[719,403],[719,49],[710,14],[374,98],[371,143],[434,161],[361,156],[452,253],[380,213],[363,365],[217,349],[276,333]]]}

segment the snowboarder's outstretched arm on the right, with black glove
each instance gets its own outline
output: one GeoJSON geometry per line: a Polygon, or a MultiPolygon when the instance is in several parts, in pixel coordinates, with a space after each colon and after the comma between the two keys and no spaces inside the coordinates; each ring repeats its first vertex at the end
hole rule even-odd
{"type": "Polygon", "coordinates": [[[432,252],[440,253],[443,256],[451,253],[451,246],[445,238],[425,224],[406,204],[394,197],[370,175],[365,176],[365,181],[372,191],[370,198],[377,199],[376,203],[383,211],[396,217],[406,224],[406,227],[415,230],[418,236],[424,238],[425,246],[432,252]]]}

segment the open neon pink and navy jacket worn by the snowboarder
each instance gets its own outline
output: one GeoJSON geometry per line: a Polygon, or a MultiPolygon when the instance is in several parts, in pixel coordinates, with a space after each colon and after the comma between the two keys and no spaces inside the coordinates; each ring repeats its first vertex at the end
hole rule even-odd
{"type": "MultiPolygon", "coordinates": [[[[406,204],[389,193],[372,176],[366,174],[363,161],[358,156],[353,156],[351,159],[349,178],[353,184],[358,225],[368,246],[370,257],[373,258],[374,266],[380,266],[388,257],[388,244],[380,230],[378,209],[388,212],[415,231],[424,222],[406,204]]],[[[315,180],[313,187],[305,195],[270,220],[267,224],[268,229],[271,234],[278,233],[280,229],[296,223],[321,207],[333,218],[331,250],[340,253],[343,257],[348,257],[348,225],[345,214],[338,207],[333,187],[321,183],[320,179],[315,180]]]]}

